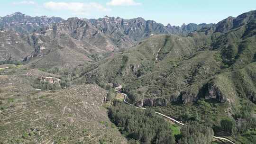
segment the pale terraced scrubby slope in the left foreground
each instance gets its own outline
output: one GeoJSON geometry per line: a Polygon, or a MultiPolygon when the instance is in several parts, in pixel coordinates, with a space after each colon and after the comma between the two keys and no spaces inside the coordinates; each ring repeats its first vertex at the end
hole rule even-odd
{"type": "Polygon", "coordinates": [[[18,77],[0,81],[0,144],[126,143],[101,107],[107,91],[96,85],[39,91],[18,77]]]}

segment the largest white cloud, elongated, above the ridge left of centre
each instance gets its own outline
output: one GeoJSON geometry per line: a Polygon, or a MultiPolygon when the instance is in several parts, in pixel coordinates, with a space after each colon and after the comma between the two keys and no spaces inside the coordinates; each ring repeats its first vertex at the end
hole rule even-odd
{"type": "Polygon", "coordinates": [[[49,1],[44,3],[44,7],[46,9],[51,10],[68,10],[73,12],[74,14],[87,15],[91,11],[110,11],[111,9],[105,8],[99,3],[90,2],[90,3],[82,3],[82,2],[53,2],[49,1]]]}

